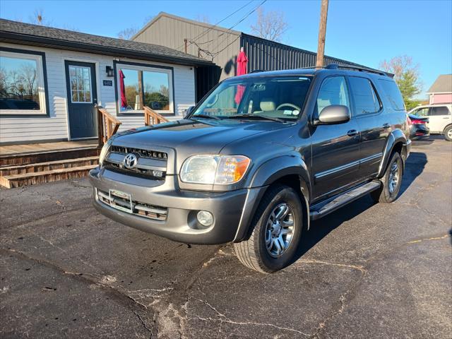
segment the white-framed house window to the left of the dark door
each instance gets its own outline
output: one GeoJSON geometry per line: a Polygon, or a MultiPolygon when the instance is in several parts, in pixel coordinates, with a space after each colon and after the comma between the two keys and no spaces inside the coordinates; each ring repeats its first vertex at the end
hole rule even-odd
{"type": "Polygon", "coordinates": [[[0,114],[46,114],[42,55],[0,51],[0,114]]]}

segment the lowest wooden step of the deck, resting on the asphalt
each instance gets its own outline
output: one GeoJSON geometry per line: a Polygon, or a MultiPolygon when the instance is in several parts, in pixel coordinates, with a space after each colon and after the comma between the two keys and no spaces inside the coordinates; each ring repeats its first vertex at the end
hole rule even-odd
{"type": "Polygon", "coordinates": [[[44,182],[57,182],[59,180],[81,178],[87,176],[90,169],[93,169],[96,166],[97,165],[86,165],[52,169],[42,172],[5,175],[0,177],[0,185],[11,189],[13,187],[25,185],[42,184],[44,182]]]}

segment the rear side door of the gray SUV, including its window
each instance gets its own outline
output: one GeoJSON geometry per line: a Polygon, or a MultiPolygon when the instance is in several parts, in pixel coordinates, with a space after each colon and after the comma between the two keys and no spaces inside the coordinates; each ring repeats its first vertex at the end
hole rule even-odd
{"type": "Polygon", "coordinates": [[[361,131],[359,177],[379,172],[386,138],[391,131],[390,114],[385,114],[374,83],[369,78],[350,76],[353,115],[361,131]]]}

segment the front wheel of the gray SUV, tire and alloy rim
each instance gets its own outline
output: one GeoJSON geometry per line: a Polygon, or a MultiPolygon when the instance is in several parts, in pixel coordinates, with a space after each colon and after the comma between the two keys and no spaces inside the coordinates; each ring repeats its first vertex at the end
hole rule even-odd
{"type": "Polygon", "coordinates": [[[297,192],[288,186],[270,186],[254,214],[248,240],[234,243],[235,254],[251,270],[273,273],[292,261],[302,226],[303,207],[297,192]]]}

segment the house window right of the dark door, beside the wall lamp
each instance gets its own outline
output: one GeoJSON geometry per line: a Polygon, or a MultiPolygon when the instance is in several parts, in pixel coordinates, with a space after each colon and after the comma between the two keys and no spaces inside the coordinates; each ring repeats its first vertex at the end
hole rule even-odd
{"type": "Polygon", "coordinates": [[[121,113],[141,113],[148,106],[159,113],[173,113],[172,70],[117,66],[118,105],[121,113]]]}

